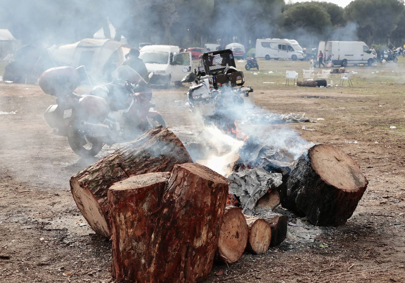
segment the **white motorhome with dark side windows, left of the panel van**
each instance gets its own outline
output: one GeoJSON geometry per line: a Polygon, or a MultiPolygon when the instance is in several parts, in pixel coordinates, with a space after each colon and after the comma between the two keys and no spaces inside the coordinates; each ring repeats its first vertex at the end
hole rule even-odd
{"type": "Polygon", "coordinates": [[[256,57],[266,60],[291,59],[304,60],[305,54],[301,46],[293,39],[264,38],[256,39],[256,57]]]}

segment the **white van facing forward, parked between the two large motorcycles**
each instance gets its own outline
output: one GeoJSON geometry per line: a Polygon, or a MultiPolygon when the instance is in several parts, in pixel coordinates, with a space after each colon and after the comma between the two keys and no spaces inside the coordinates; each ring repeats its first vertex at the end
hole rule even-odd
{"type": "Polygon", "coordinates": [[[191,52],[172,45],[147,45],[139,50],[139,58],[143,60],[148,72],[153,72],[151,83],[163,84],[168,87],[171,82],[181,85],[185,76],[183,69],[191,71],[191,52]]]}

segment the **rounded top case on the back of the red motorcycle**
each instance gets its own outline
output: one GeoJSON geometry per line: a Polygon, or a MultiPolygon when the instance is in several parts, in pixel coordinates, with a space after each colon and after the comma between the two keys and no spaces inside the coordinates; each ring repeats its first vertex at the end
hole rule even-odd
{"type": "Polygon", "coordinates": [[[46,94],[53,96],[66,95],[79,86],[80,76],[73,67],[55,67],[43,72],[38,84],[46,94]]]}

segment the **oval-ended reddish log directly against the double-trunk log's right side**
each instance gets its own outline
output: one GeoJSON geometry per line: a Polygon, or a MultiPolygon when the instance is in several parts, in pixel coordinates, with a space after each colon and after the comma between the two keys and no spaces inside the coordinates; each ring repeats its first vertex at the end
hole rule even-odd
{"type": "Polygon", "coordinates": [[[245,251],[248,237],[249,229],[241,210],[236,206],[226,205],[222,217],[216,260],[224,263],[239,260],[245,251]]]}

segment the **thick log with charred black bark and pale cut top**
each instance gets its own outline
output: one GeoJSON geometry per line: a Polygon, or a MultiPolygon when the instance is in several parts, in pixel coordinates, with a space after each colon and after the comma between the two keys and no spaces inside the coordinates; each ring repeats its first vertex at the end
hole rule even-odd
{"type": "Polygon", "coordinates": [[[367,188],[360,166],[340,149],[314,145],[299,158],[287,181],[287,198],[314,225],[349,219],[367,188]]]}

